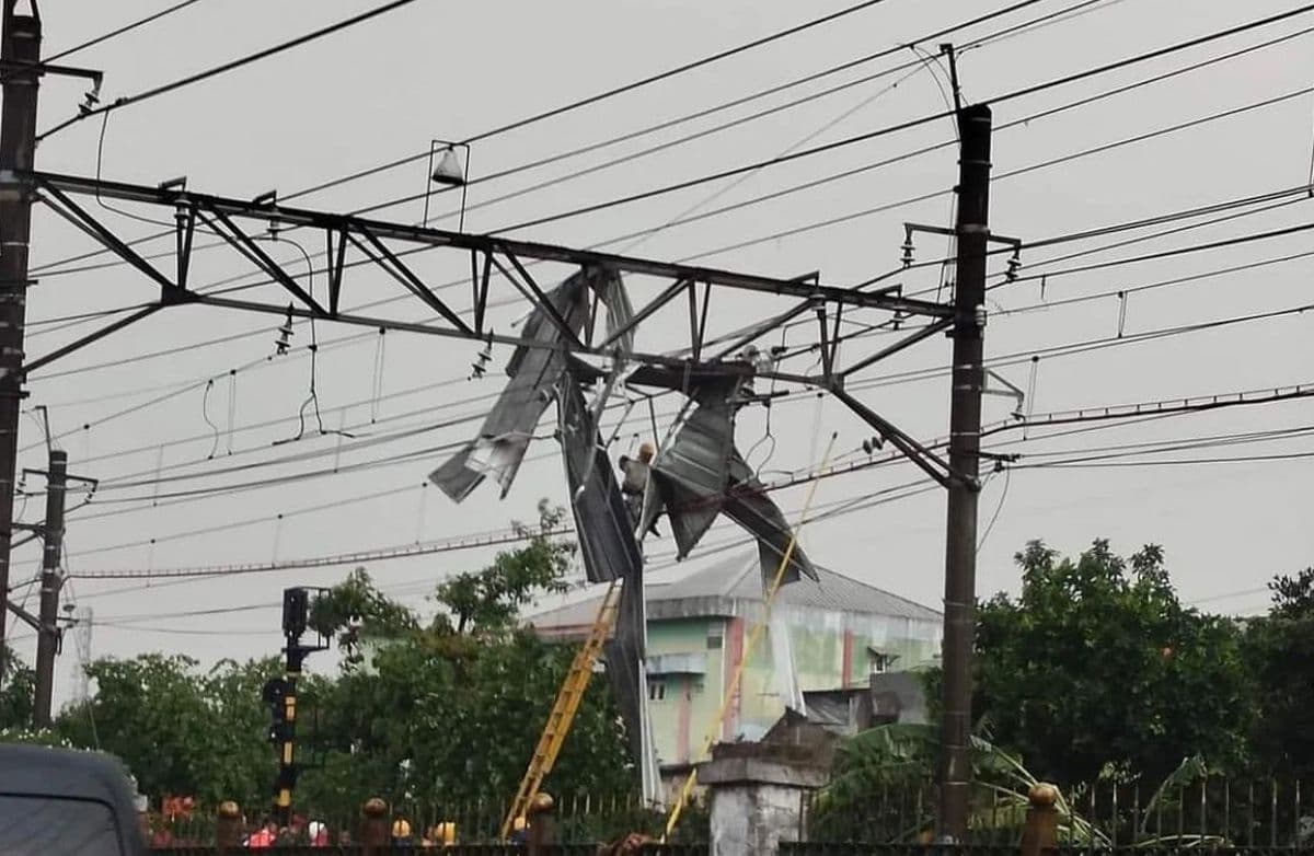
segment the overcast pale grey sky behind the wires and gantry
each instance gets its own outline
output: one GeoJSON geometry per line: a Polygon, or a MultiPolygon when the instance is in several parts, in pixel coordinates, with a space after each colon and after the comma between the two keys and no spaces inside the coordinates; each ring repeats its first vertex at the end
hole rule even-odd
{"type": "MultiPolygon", "coordinates": [[[[154,12],[160,5],[159,0],[114,4],[47,0],[42,4],[46,53],[63,50],[154,12]]],[[[102,68],[102,97],[112,101],[372,5],[361,0],[202,0],[66,62],[102,68]]],[[[924,33],[993,11],[997,5],[1003,4],[887,0],[836,24],[481,142],[473,148],[472,176],[502,171],[712,106],[912,41],[924,33]]],[[[955,34],[954,41],[966,43],[1000,26],[1066,5],[1059,0],[1045,0],[999,22],[955,34]]],[[[961,62],[962,84],[968,98],[988,100],[1031,83],[1084,71],[1289,7],[1271,1],[1235,4],[1201,0],[1189,4],[1190,13],[1184,14],[1187,5],[1169,0],[1110,0],[1071,20],[966,53],[961,62]]],[[[721,0],[715,4],[686,0],[590,0],[569,4],[420,1],[314,45],[113,113],[105,129],[100,168],[106,179],[142,184],[187,175],[192,189],[234,197],[254,197],[269,189],[288,194],[424,151],[432,138],[468,138],[838,8],[838,3],[830,1],[800,7],[774,0],[721,0]]],[[[1297,17],[1116,74],[1009,101],[996,109],[996,125],[1293,33],[1311,26],[1310,17],[1314,16],[1297,17]]],[[[934,50],[934,45],[922,47],[934,50]]],[[[469,202],[476,206],[494,196],[909,59],[913,59],[911,51],[896,53],[735,110],[476,185],[470,188],[469,202]]],[[[1000,130],[995,137],[995,171],[1003,173],[1292,93],[1310,85],[1311,72],[1314,51],[1310,50],[1310,37],[1301,37],[1133,93],[1000,130]]],[[[497,230],[771,158],[808,138],[812,139],[809,144],[824,143],[945,109],[942,92],[930,71],[917,71],[891,88],[901,76],[859,84],[514,201],[472,209],[466,215],[466,227],[473,231],[497,230]]],[[[41,92],[39,126],[45,129],[71,116],[80,95],[79,84],[47,77],[41,92]]],[[[1314,101],[1306,93],[1236,117],[1000,180],[992,189],[992,227],[999,234],[1038,240],[1302,184],[1310,171],[1311,104],[1314,101]]],[[[91,119],[51,138],[38,151],[38,168],[95,175],[100,130],[100,121],[91,119]]],[[[658,226],[695,205],[702,203],[699,210],[704,210],[748,200],[951,137],[953,127],[945,119],[763,169],[728,190],[731,181],[714,182],[548,223],[518,232],[518,236],[591,246],[658,226]],[[723,196],[708,202],[708,197],[717,193],[723,196]]],[[[955,169],[953,148],[940,148],[812,190],[708,217],[696,225],[671,227],[650,235],[628,252],[658,259],[700,256],[807,223],[947,190],[954,182],[955,169]]],[[[327,210],[364,207],[418,193],[424,186],[424,164],[418,163],[298,200],[297,203],[327,210]]],[[[448,211],[453,200],[455,194],[435,200],[434,211],[448,211]]],[[[87,203],[122,235],[139,236],[158,228],[96,206],[91,200],[87,203]]],[[[1035,272],[1051,272],[1294,226],[1310,222],[1311,206],[1314,202],[1296,202],[1049,267],[1039,263],[1143,232],[1035,249],[1024,253],[1024,263],[1033,265],[1035,272]]],[[[163,219],[171,214],[145,207],[125,210],[163,219]]],[[[415,222],[420,215],[419,202],[377,214],[401,222],[415,222]]],[[[897,265],[905,221],[949,225],[949,215],[950,198],[942,194],[829,227],[700,256],[699,261],[777,276],[820,270],[827,284],[853,285],[897,265]]],[[[439,225],[455,228],[456,219],[443,219],[439,225]]],[[[198,236],[198,240],[202,239],[198,236]]],[[[608,248],[625,246],[611,244],[608,248]]],[[[53,213],[37,210],[34,265],[91,248],[84,236],[58,222],[53,213]]],[[[150,246],[155,251],[167,248],[167,242],[150,246]]],[[[318,243],[307,246],[311,252],[319,248],[318,243]]],[[[921,260],[940,257],[946,248],[943,239],[917,239],[921,260]]],[[[1060,301],[1134,289],[1310,248],[1309,234],[1305,232],[1053,277],[1046,282],[1043,295],[1035,281],[999,289],[992,293],[995,303],[991,306],[993,318],[987,332],[987,353],[991,357],[1020,354],[1017,365],[1001,368],[1000,373],[1025,389],[1031,385],[1026,362],[1029,353],[1117,335],[1121,305],[1110,295],[1013,315],[1000,314],[999,310],[1034,306],[1042,297],[1060,301]]],[[[271,252],[298,274],[305,269],[305,261],[290,244],[275,247],[271,252]]],[[[162,264],[168,269],[167,261],[162,264]]],[[[435,282],[447,282],[468,272],[468,260],[460,253],[424,253],[417,256],[414,264],[418,272],[435,282]]],[[[1309,291],[1311,267],[1309,259],[1293,260],[1137,293],[1126,303],[1122,331],[1133,336],[1314,302],[1309,291]]],[[[548,278],[548,269],[544,270],[541,278],[548,278]]],[[[192,280],[205,284],[247,272],[250,268],[231,251],[205,251],[196,256],[192,280]]],[[[562,273],[564,269],[553,268],[551,276],[562,273]]],[[[901,281],[908,290],[920,290],[934,288],[937,280],[937,269],[921,269],[901,281]]],[[[635,280],[635,302],[640,303],[645,295],[653,294],[657,285],[635,280]]],[[[311,286],[322,293],[322,277],[314,277],[311,286]]],[[[494,288],[499,289],[497,297],[510,294],[505,282],[494,288]]],[[[346,301],[359,306],[399,293],[398,286],[381,273],[361,269],[350,276],[346,301]]],[[[273,302],[283,299],[272,290],[252,294],[273,302]]],[[[468,306],[468,288],[449,294],[457,306],[468,306]]],[[[146,301],[152,295],[151,285],[126,267],[42,277],[32,291],[29,318],[42,322],[146,301]]],[[[750,318],[769,315],[781,306],[741,294],[717,295],[710,327],[712,332],[724,332],[750,318]]],[[[386,307],[393,316],[409,319],[422,318],[420,310],[414,301],[399,301],[386,307]]],[[[643,328],[639,347],[645,351],[681,347],[686,336],[683,311],[675,307],[671,314],[654,318],[643,328]]],[[[522,312],[523,306],[501,309],[493,323],[499,330],[509,330],[522,312]]],[[[871,315],[858,320],[882,319],[871,315]]],[[[468,364],[478,352],[478,345],[389,333],[380,353],[374,335],[360,336],[359,328],[319,324],[317,332],[325,347],[319,352],[317,379],[325,424],[336,428],[342,419],[342,424],[356,425],[360,437],[343,441],[340,452],[335,452],[339,444],[335,437],[307,436],[294,444],[272,446],[275,441],[297,433],[297,414],[306,398],[309,381],[305,349],[265,361],[273,352],[277,324],[279,320],[271,316],[215,309],[175,309],[35,374],[30,385],[30,404],[50,408],[53,428],[64,435],[60,444],[68,449],[71,470],[105,481],[95,502],[70,516],[68,565],[74,572],[269,562],[275,558],[460,537],[501,529],[512,519],[531,520],[540,498],[565,502],[561,463],[552,442],[535,444],[530,462],[505,502],[498,500],[490,484],[481,487],[461,505],[452,504],[432,487],[420,487],[424,475],[442,462],[445,453],[260,490],[188,498],[188,502],[170,499],[168,495],[175,491],[277,479],[330,467],[339,461],[343,465],[374,461],[465,440],[477,423],[436,425],[456,416],[478,414],[485,403],[466,399],[495,394],[501,389],[501,368],[509,354],[506,348],[495,348],[494,372],[482,381],[466,382],[468,364]],[[251,331],[258,335],[125,362],[146,352],[251,331]],[[346,341],[332,347],[327,344],[336,340],[346,341]],[[374,381],[380,361],[382,400],[377,400],[374,381]],[[81,370],[63,374],[71,369],[81,370]],[[230,375],[231,369],[240,370],[230,375]],[[208,378],[214,378],[214,383],[206,395],[208,378]],[[388,398],[442,381],[451,383],[388,398]],[[171,391],[177,394],[151,403],[171,391]],[[138,404],[142,407],[117,415],[138,404]],[[230,414],[237,428],[231,437],[230,414]],[[277,424],[244,429],[276,419],[277,424]],[[373,425],[369,424],[372,419],[377,420],[373,425]],[[218,427],[217,440],[212,423],[218,427]],[[434,429],[405,440],[390,436],[422,427],[434,429]],[[177,442],[188,437],[192,440],[177,442]],[[160,452],[162,444],[170,445],[160,452]],[[352,444],[363,445],[352,449],[352,444]],[[208,461],[212,448],[215,458],[208,461]],[[288,456],[302,458],[217,474],[222,467],[288,456]],[[155,488],[150,482],[156,471],[191,478],[162,483],[159,504],[152,507],[155,488]],[[369,499],[374,494],[385,495],[369,499]],[[131,499],[138,502],[126,502],[131,499]],[[293,513],[330,503],[342,504],[313,513],[293,513]],[[277,519],[280,513],[285,515],[281,521],[277,519]],[[176,537],[194,529],[252,519],[258,523],[176,537]],[[151,538],[158,540],[154,546],[143,544],[151,538]]],[[[1034,395],[1028,407],[1045,414],[1314,381],[1310,324],[1307,314],[1289,314],[1148,341],[1125,341],[1072,356],[1046,356],[1038,364],[1034,395]]],[[[88,330],[89,326],[79,326],[53,332],[50,324],[38,323],[32,330],[34,335],[29,339],[28,351],[30,354],[45,353],[88,330]]],[[[812,335],[811,327],[798,328],[790,331],[787,341],[804,343],[812,335]]],[[[309,336],[309,328],[298,324],[293,344],[305,345],[309,336]]],[[[779,340],[767,340],[767,344],[775,341],[779,340]]],[[[845,347],[845,357],[858,358],[888,341],[884,336],[857,339],[845,347]]],[[[947,357],[949,343],[933,337],[862,373],[861,379],[872,383],[862,389],[859,396],[909,433],[928,440],[940,437],[947,427],[947,379],[940,374],[916,381],[897,375],[915,369],[942,368],[947,365],[947,357]],[[891,381],[880,383],[882,378],[891,381]]],[[[791,365],[805,370],[807,364],[808,360],[799,360],[791,365]]],[[[1010,410],[1012,402],[1007,398],[987,399],[986,419],[1005,419],[1010,410]]],[[[1056,450],[1080,452],[1129,442],[1303,428],[1311,424],[1311,412],[1307,400],[1297,400],[1053,440],[1039,440],[1038,435],[1043,432],[1033,432],[1025,442],[1021,442],[1020,432],[1001,435],[1000,439],[1012,441],[1010,452],[1041,454],[1033,461],[1042,461],[1045,453],[1056,450]]],[[[635,435],[650,433],[645,425],[646,416],[640,417],[640,414],[635,411],[635,416],[622,427],[615,452],[625,450],[635,435]]],[[[819,402],[811,395],[792,396],[773,408],[774,445],[758,444],[765,437],[763,428],[761,412],[748,414],[740,424],[738,444],[742,449],[757,444],[750,457],[754,465],[763,465],[762,474],[767,482],[781,478],[777,470],[813,466],[832,431],[838,433],[837,452],[849,456],[845,461],[857,460],[853,452],[870,435],[841,406],[819,402]],[[766,460],[773,448],[774,453],[766,460]]],[[[26,419],[22,432],[25,452],[21,463],[42,466],[45,453],[37,423],[26,419]]],[[[1177,456],[1160,454],[1155,460],[1307,450],[1307,436],[1296,435],[1177,456]]],[[[1307,524],[1306,487],[1311,473],[1314,462],[1309,458],[1201,466],[1025,469],[1012,474],[1007,498],[1005,479],[993,478],[982,500],[983,529],[996,509],[999,513],[980,551],[979,591],[988,595],[1016,589],[1018,574],[1012,555],[1030,538],[1043,538],[1060,550],[1077,551],[1092,538],[1108,537],[1123,553],[1144,542],[1163,544],[1173,579],[1187,600],[1230,595],[1202,605],[1242,613],[1260,609],[1267,600],[1263,593],[1234,592],[1260,588],[1272,574],[1290,572],[1311,561],[1314,529],[1307,524]]],[[[820,484],[817,503],[838,504],[911,482],[917,475],[911,465],[904,463],[828,479],[820,484]]],[[[796,516],[804,494],[802,487],[777,494],[791,519],[796,516]]],[[[33,499],[22,519],[37,520],[41,502],[33,499]]],[[[938,607],[943,513],[943,496],[930,491],[817,521],[807,529],[804,544],[820,563],[938,607]]],[[[707,537],[707,545],[715,546],[735,534],[729,528],[715,529],[707,537]]],[[[669,545],[656,542],[649,549],[664,554],[669,545]]],[[[477,568],[489,557],[489,550],[445,553],[371,562],[368,570],[385,589],[407,603],[423,605],[424,593],[436,580],[455,571],[477,568]]],[[[38,559],[38,551],[30,546],[18,551],[14,582],[32,575],[38,559]]],[[[698,555],[690,561],[698,561],[698,555]]],[[[156,583],[148,589],[142,588],[138,580],[109,583],[75,579],[66,595],[78,605],[96,612],[95,655],[126,656],[164,650],[183,651],[209,663],[221,656],[276,653],[280,642],[279,612],[272,604],[279,600],[281,589],[292,584],[331,584],[347,570],[350,567],[252,574],[185,584],[156,583]],[[209,616],[177,616],[261,604],[267,607],[209,616]]],[[[11,634],[17,639],[18,651],[30,655],[33,645],[28,630],[20,626],[11,634]]],[[[62,693],[67,692],[72,651],[72,645],[66,646],[59,680],[62,693]]]]}

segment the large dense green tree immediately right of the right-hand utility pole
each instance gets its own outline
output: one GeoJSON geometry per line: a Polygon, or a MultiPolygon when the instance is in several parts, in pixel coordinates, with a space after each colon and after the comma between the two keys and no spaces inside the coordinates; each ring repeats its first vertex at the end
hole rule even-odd
{"type": "Polygon", "coordinates": [[[1035,541],[1022,592],[978,612],[976,700],[996,743],[1059,784],[1110,769],[1158,781],[1184,758],[1235,767],[1254,697],[1240,633],[1185,608],[1146,546],[1076,561],[1035,541]]]}

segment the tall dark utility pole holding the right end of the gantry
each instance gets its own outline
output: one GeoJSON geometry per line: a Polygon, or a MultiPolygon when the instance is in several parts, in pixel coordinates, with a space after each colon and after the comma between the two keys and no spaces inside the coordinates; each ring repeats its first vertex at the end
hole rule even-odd
{"type": "Polygon", "coordinates": [[[976,502],[980,495],[982,391],[986,333],[986,247],[989,240],[991,109],[958,112],[958,239],[954,290],[953,396],[949,416],[947,534],[945,545],[943,721],[941,723],[940,835],[967,834],[972,761],[972,643],[976,634],[976,502]]]}

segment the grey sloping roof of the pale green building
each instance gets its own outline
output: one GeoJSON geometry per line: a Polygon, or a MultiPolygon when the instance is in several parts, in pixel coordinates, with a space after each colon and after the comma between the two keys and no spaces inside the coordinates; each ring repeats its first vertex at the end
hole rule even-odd
{"type": "MultiPolygon", "coordinates": [[[[821,566],[816,570],[820,578],[817,582],[804,578],[784,586],[778,603],[827,612],[940,621],[940,613],[929,607],[821,566]]],[[[677,566],[649,572],[644,588],[649,620],[742,614],[762,603],[757,550],[692,570],[677,566]]],[[[573,596],[569,603],[528,616],[527,621],[539,630],[548,631],[590,626],[599,600],[600,593],[590,588],[573,596]]]]}

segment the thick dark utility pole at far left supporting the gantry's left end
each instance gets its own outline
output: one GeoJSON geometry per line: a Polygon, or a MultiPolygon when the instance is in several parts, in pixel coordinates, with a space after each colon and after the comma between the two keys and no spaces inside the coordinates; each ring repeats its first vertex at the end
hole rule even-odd
{"type": "MultiPolygon", "coordinates": [[[[30,182],[18,172],[33,168],[37,137],[37,87],[41,18],[14,14],[17,0],[4,0],[0,30],[0,597],[9,593],[9,546],[13,541],[13,492],[18,466],[18,416],[22,403],[22,335],[28,299],[28,240],[32,235],[30,182]]],[[[7,609],[0,609],[0,639],[7,609]]],[[[0,680],[4,675],[0,646],[0,680]]]]}

